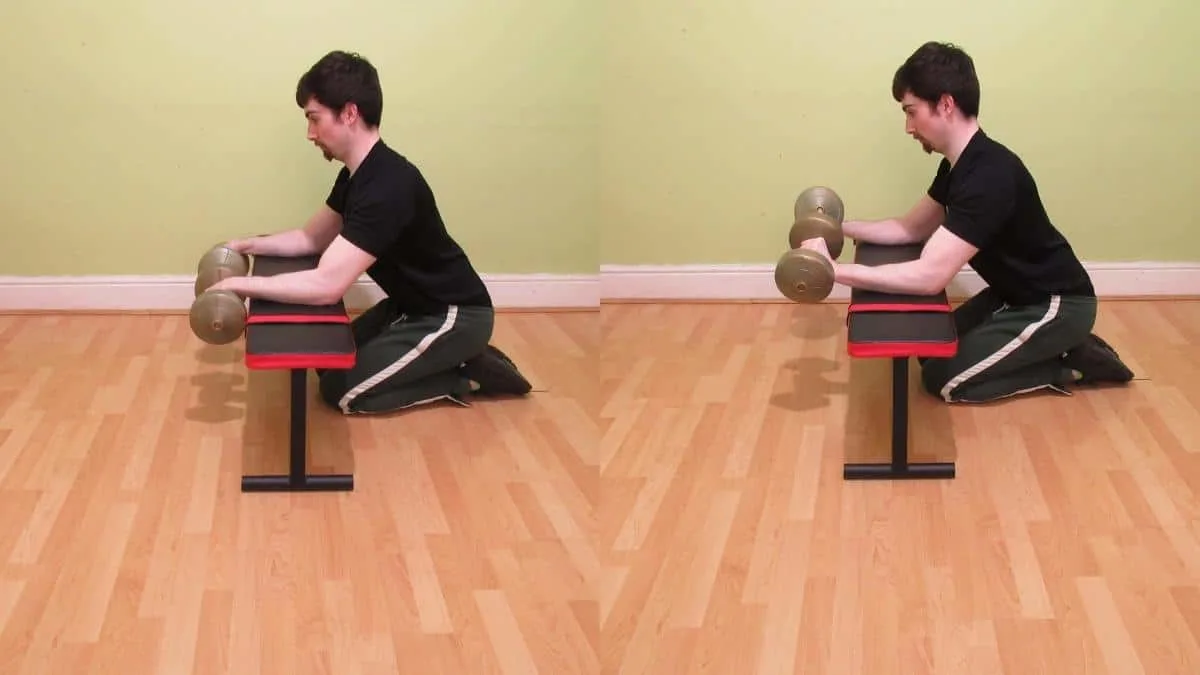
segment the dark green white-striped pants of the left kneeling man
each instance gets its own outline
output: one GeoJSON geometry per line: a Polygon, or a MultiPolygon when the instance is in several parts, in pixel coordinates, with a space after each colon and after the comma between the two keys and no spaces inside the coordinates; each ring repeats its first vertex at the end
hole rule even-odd
{"type": "Polygon", "coordinates": [[[492,307],[450,306],[414,315],[384,299],[352,323],[354,368],[318,372],[320,396],[346,414],[394,412],[438,400],[466,405],[470,382],[460,366],[484,352],[494,322],[492,307]]]}

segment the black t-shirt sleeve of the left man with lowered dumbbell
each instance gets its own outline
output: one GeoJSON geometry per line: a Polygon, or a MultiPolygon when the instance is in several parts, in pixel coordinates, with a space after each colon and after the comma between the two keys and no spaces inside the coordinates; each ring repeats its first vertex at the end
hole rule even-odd
{"type": "Polygon", "coordinates": [[[409,181],[371,180],[355,185],[342,214],[342,237],[374,257],[382,257],[413,221],[414,191],[409,181]]]}

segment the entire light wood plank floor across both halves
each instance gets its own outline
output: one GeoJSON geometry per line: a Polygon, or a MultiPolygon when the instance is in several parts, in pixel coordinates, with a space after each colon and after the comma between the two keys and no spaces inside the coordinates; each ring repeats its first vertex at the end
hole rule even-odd
{"type": "Polygon", "coordinates": [[[1129,387],[944,406],[887,455],[845,306],[502,315],[541,392],[344,418],[186,317],[0,316],[0,673],[1200,673],[1200,303],[1105,303],[1129,387]]]}

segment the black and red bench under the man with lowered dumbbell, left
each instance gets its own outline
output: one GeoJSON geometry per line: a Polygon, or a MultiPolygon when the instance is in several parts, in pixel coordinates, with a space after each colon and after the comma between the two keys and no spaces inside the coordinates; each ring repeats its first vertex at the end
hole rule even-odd
{"type": "MultiPolygon", "coordinates": [[[[317,267],[316,256],[254,256],[252,276],[272,276],[317,267]]],[[[258,298],[246,312],[246,368],[290,370],[288,472],[242,476],[242,492],[352,491],[354,474],[310,474],[308,369],[347,369],[355,363],[354,335],[346,304],[299,305],[258,298]]]]}

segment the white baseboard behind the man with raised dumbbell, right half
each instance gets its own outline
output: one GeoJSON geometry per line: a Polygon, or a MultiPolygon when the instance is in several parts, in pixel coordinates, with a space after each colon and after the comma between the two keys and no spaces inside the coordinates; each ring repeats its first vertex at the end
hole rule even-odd
{"type": "MultiPolygon", "coordinates": [[[[1085,263],[1102,298],[1200,297],[1200,263],[1085,263]]],[[[954,277],[950,298],[983,288],[972,270],[954,277]]],[[[601,265],[600,295],[610,300],[786,301],[775,287],[773,264],[601,265]]],[[[834,286],[827,301],[846,301],[850,288],[834,286]]]]}

